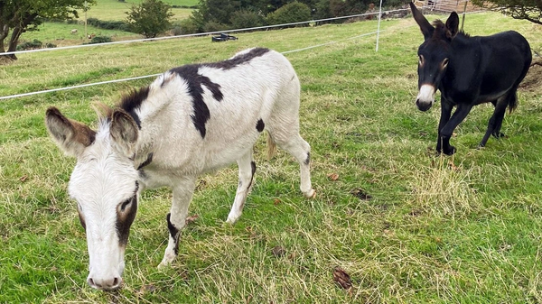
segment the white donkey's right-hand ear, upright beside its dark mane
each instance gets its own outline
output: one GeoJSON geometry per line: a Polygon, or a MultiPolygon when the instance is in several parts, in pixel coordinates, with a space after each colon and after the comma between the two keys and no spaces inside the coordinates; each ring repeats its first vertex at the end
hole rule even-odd
{"type": "Polygon", "coordinates": [[[137,142],[139,132],[134,118],[124,110],[115,109],[113,115],[111,115],[109,132],[117,151],[127,157],[132,157],[135,152],[135,142],[137,142]]]}

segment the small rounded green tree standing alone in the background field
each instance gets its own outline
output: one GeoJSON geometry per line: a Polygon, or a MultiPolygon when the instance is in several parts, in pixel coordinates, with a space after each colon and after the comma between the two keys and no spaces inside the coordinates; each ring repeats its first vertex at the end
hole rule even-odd
{"type": "Polygon", "coordinates": [[[131,32],[140,33],[145,38],[154,38],[172,27],[172,8],[160,0],[144,0],[140,5],[132,5],[126,14],[131,32]]]}

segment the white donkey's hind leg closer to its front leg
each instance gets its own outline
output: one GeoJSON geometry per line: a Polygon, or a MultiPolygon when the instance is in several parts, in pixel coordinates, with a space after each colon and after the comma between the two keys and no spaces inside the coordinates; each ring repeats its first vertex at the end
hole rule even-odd
{"type": "Polygon", "coordinates": [[[252,161],[252,147],[237,162],[239,167],[238,189],[231,211],[229,211],[228,220],[226,220],[230,224],[234,224],[243,213],[248,192],[252,188],[254,172],[256,172],[256,162],[252,161]]]}

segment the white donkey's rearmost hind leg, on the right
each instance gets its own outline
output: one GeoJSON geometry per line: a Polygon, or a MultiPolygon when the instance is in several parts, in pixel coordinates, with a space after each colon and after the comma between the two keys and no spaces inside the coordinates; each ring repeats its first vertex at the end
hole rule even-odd
{"type": "Polygon", "coordinates": [[[267,130],[273,142],[281,149],[290,153],[299,162],[299,170],[301,175],[300,189],[306,198],[314,198],[314,191],[311,184],[311,146],[305,142],[299,135],[299,127],[296,125],[288,125],[285,128],[273,128],[267,130]]]}

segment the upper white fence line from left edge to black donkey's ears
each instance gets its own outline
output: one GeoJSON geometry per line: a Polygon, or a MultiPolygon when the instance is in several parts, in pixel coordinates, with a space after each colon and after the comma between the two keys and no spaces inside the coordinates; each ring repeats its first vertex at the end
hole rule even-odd
{"type": "MultiPolygon", "coordinates": [[[[389,10],[389,11],[382,12],[382,14],[396,13],[396,12],[401,12],[401,11],[408,11],[408,9],[401,8],[401,9],[397,9],[397,10],[389,10]]],[[[266,25],[266,26],[256,26],[256,27],[248,27],[248,28],[243,28],[243,29],[234,29],[234,30],[227,30],[227,31],[198,32],[198,33],[189,33],[189,34],[177,35],[177,36],[165,36],[165,37],[157,37],[157,38],[142,38],[142,39],[134,39],[134,40],[126,40],[126,41],[112,41],[112,42],[92,43],[92,44],[79,44],[79,45],[70,45],[70,46],[64,46],[64,47],[60,47],[60,48],[49,48],[49,49],[37,49],[37,50],[26,50],[26,51],[6,51],[6,52],[3,52],[3,53],[0,53],[0,56],[11,55],[11,54],[31,53],[31,52],[37,52],[37,51],[60,51],[60,50],[68,50],[68,49],[89,48],[89,47],[98,47],[98,46],[106,46],[106,45],[121,44],[121,43],[142,42],[142,41],[162,41],[162,40],[168,40],[168,39],[179,39],[179,38],[186,38],[186,37],[206,36],[206,35],[212,35],[212,34],[217,34],[217,33],[221,33],[221,32],[246,32],[246,31],[264,30],[264,29],[276,28],[276,27],[281,27],[281,26],[291,26],[291,25],[299,25],[299,24],[305,24],[305,23],[321,23],[321,22],[326,22],[326,21],[348,19],[348,18],[356,18],[356,17],[368,16],[368,15],[372,15],[372,14],[378,14],[378,12],[366,13],[366,14],[351,14],[351,15],[342,16],[342,17],[333,17],[333,18],[317,19],[317,20],[310,20],[310,21],[301,21],[301,22],[297,22],[297,23],[284,23],[284,24],[275,24],[275,25],[266,25]]]]}

